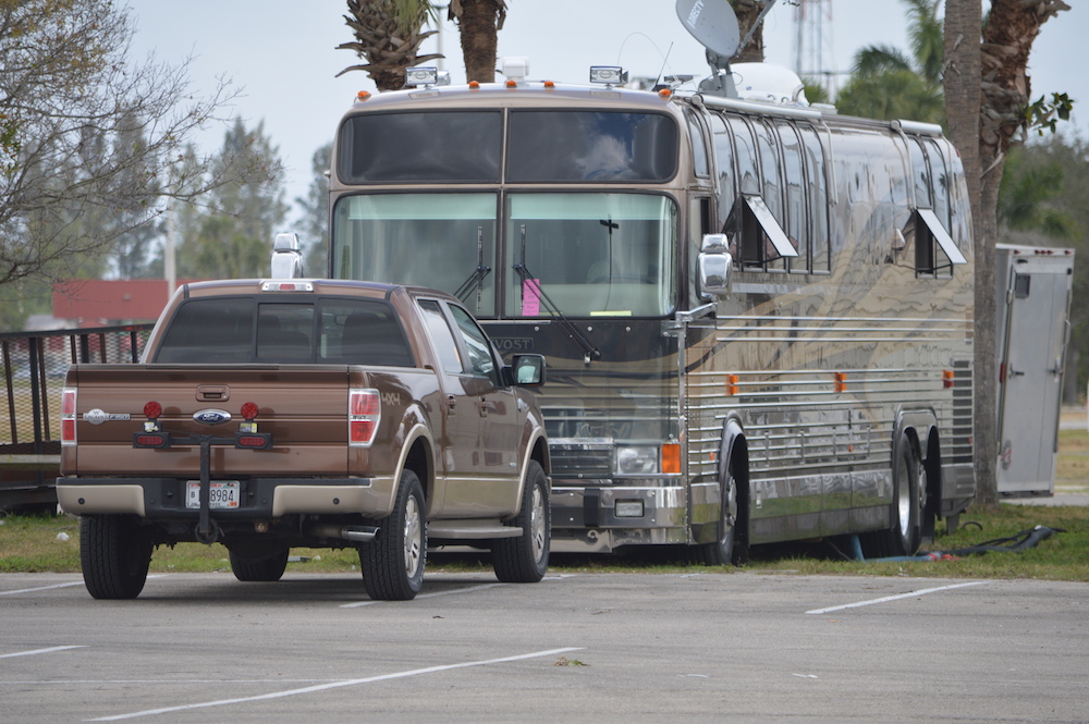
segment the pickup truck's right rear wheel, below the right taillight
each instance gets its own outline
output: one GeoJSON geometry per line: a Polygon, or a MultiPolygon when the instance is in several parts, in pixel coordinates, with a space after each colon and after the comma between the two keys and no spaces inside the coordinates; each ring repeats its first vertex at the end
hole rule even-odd
{"type": "Polygon", "coordinates": [[[405,470],[393,512],[374,523],[378,536],[359,547],[359,567],[370,598],[409,601],[419,593],[427,563],[426,510],[419,478],[405,470]]]}

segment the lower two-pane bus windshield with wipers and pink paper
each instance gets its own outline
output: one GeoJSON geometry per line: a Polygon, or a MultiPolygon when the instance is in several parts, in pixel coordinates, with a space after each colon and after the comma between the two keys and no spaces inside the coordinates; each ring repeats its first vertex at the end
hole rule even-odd
{"type": "Polygon", "coordinates": [[[333,273],[438,289],[484,318],[673,311],[677,207],[670,197],[511,193],[502,250],[499,204],[493,193],[343,197],[333,211],[333,273]]]}

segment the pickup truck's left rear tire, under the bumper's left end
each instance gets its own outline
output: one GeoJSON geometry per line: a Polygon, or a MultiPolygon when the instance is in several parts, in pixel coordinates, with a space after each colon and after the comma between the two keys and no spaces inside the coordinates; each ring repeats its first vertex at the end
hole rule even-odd
{"type": "Polygon", "coordinates": [[[79,519],[79,563],[87,592],[96,599],[134,599],[144,590],[154,550],[131,515],[79,519]]]}

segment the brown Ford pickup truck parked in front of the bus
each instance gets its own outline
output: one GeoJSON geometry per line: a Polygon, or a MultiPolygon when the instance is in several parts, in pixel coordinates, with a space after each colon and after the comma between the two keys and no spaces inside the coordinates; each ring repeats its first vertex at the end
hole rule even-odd
{"type": "Polygon", "coordinates": [[[73,365],[57,496],[82,516],[84,580],[131,599],[157,545],[221,542],[278,580],[293,547],[359,551],[367,592],[412,599],[428,544],[548,567],[539,355],[504,366],[452,296],[366,282],[179,289],[139,365],[73,365]]]}

